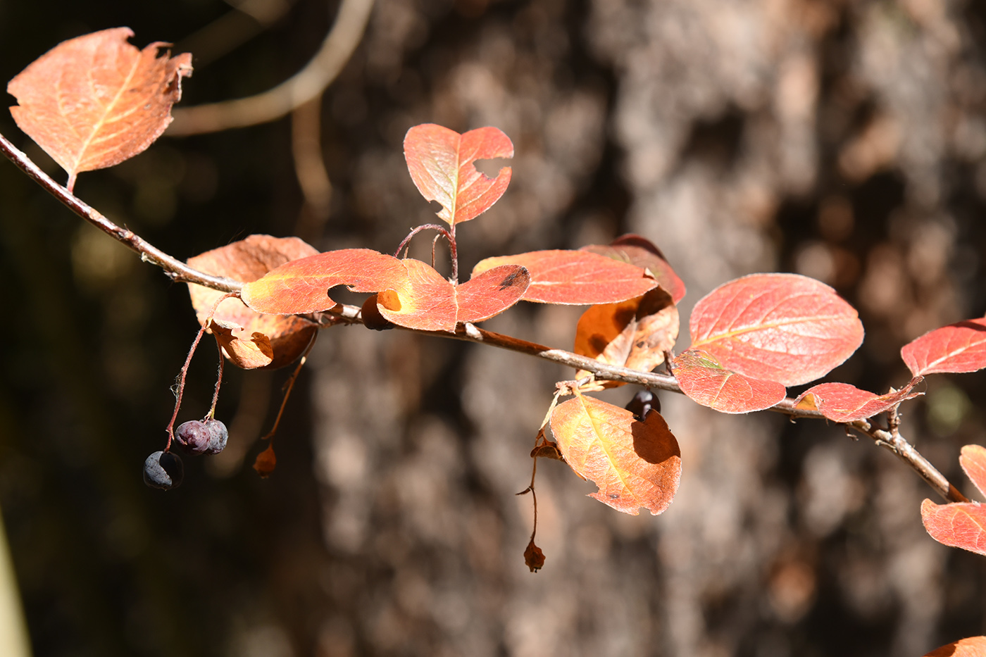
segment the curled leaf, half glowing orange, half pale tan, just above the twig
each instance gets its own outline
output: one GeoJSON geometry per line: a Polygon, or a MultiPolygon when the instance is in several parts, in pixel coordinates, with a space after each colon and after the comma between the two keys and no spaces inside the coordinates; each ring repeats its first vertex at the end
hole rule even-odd
{"type": "MultiPolygon", "coordinates": [[[[647,294],[620,302],[593,306],[579,318],[575,353],[599,362],[650,372],[665,362],[665,351],[674,346],[678,312],[668,292],[655,288],[647,294]]],[[[589,374],[580,370],[576,379],[589,374]]],[[[607,387],[624,385],[605,382],[607,387]]]]}

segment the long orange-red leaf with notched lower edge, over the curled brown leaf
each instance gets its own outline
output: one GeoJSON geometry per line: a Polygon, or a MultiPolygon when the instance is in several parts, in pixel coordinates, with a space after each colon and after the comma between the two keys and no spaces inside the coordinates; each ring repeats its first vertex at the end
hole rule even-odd
{"type": "Polygon", "coordinates": [[[329,288],[347,285],[354,292],[386,290],[407,277],[393,255],[370,249],[342,249],[293,260],[244,285],[244,303],[258,313],[317,313],[335,305],[329,288]]]}

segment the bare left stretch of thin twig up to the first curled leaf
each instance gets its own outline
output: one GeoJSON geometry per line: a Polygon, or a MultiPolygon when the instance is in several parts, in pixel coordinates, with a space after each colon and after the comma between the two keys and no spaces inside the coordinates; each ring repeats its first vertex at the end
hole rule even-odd
{"type": "Polygon", "coordinates": [[[0,152],[17,165],[29,177],[35,180],[52,196],[64,203],[70,210],[93,224],[109,237],[125,245],[130,251],[140,254],[140,259],[145,262],[152,262],[165,270],[172,280],[185,283],[198,283],[205,287],[211,287],[221,292],[239,292],[243,283],[222,276],[193,269],[187,264],[172,255],[168,255],[152,244],[146,242],[133,231],[120,228],[113,222],[106,219],[99,211],[83,202],[78,196],[69,191],[66,187],[55,183],[50,176],[38,169],[37,165],[23,152],[10,143],[6,137],[0,134],[0,152]]]}

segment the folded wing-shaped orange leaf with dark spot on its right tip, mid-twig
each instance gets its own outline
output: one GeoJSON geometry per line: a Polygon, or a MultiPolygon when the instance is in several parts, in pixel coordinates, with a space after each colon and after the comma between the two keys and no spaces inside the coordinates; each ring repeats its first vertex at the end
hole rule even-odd
{"type": "Polygon", "coordinates": [[[482,322],[504,312],[524,296],[528,270],[507,264],[455,285],[429,264],[401,260],[404,280],[377,294],[377,310],[401,327],[455,332],[462,322],[482,322]]]}

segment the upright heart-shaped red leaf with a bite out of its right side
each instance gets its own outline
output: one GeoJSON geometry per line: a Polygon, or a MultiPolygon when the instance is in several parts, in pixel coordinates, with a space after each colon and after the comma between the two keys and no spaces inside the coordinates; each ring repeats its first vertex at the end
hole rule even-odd
{"type": "Polygon", "coordinates": [[[427,200],[442,204],[438,216],[451,225],[478,217],[497,202],[510,184],[511,169],[495,179],[476,169],[476,160],[514,157],[514,144],[500,129],[484,127],[458,134],[426,123],[404,137],[407,171],[427,200]]]}

